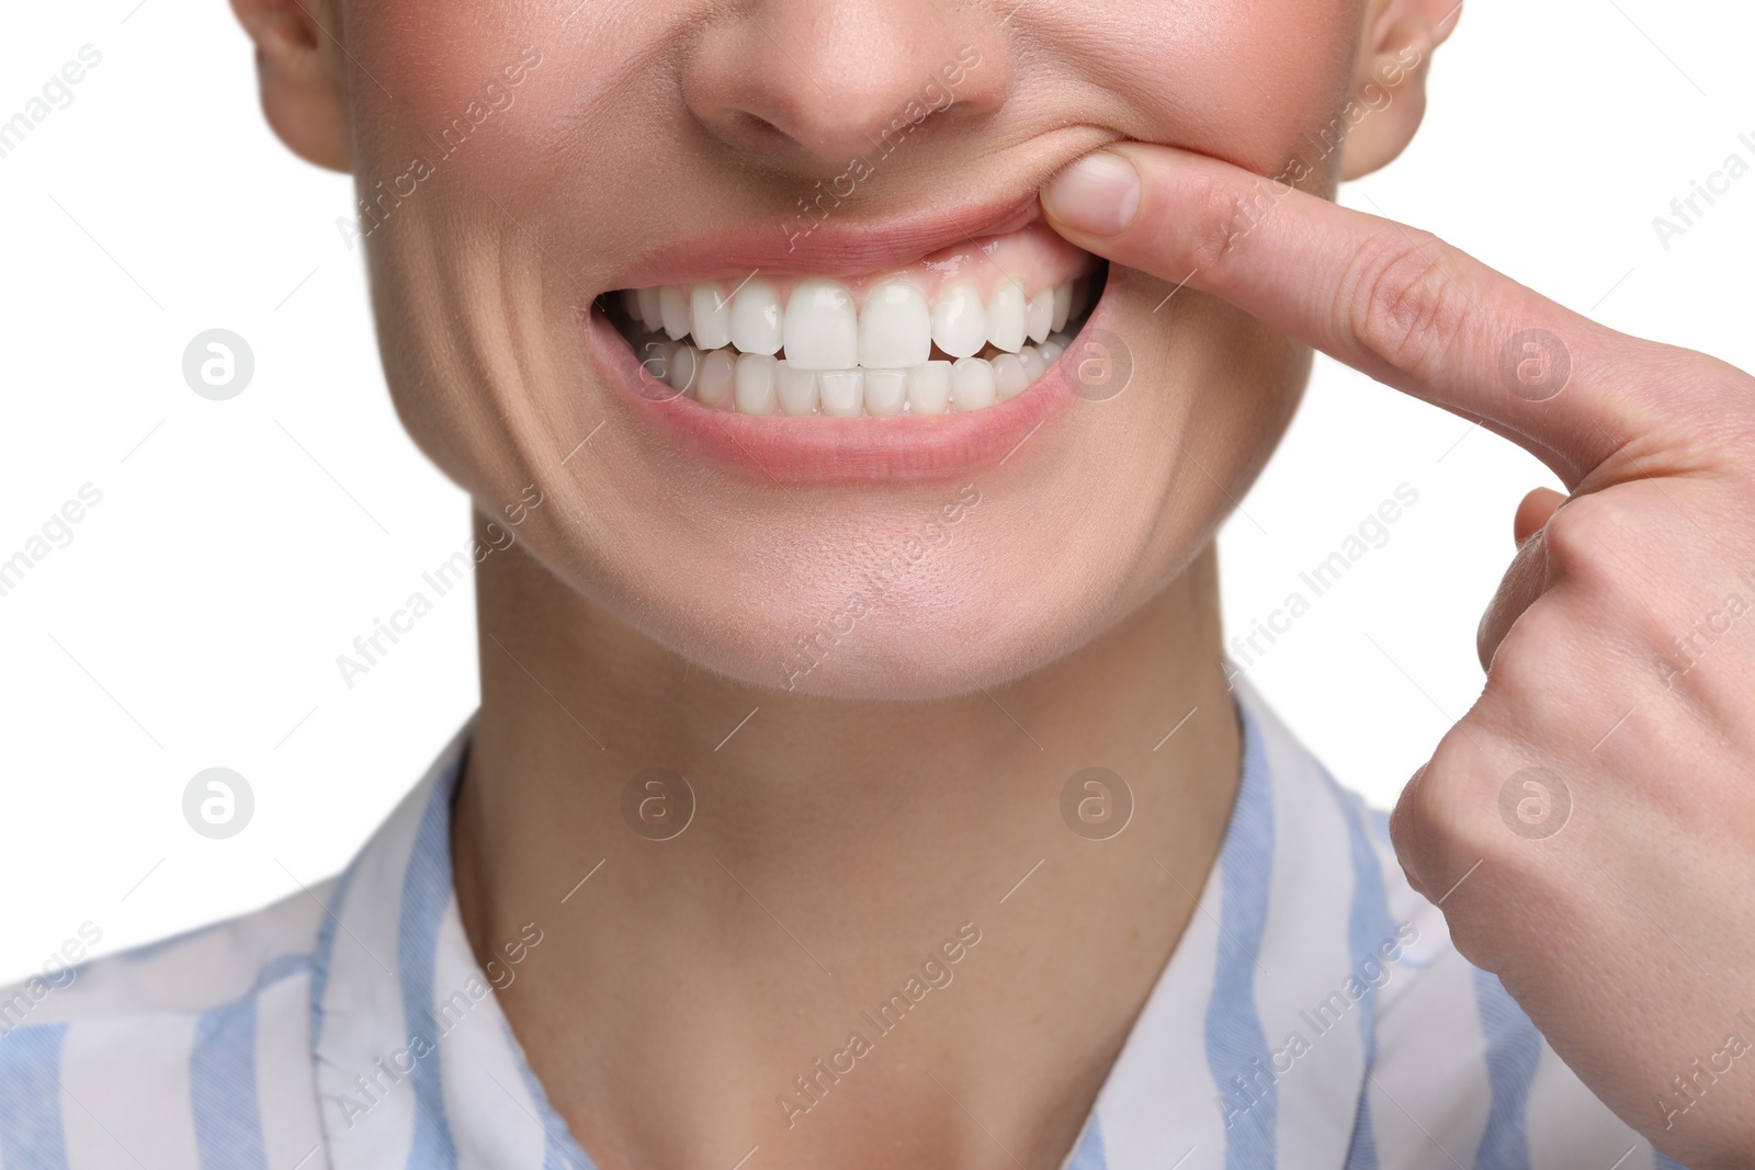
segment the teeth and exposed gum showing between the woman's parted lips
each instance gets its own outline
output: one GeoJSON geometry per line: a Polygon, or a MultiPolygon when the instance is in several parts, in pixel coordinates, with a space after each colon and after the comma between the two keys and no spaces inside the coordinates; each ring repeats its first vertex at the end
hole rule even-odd
{"type": "Polygon", "coordinates": [[[1034,223],[867,275],[756,268],[620,289],[600,305],[651,382],[648,400],[772,419],[904,419],[990,410],[1028,391],[1072,344],[1106,272],[1034,223]]]}

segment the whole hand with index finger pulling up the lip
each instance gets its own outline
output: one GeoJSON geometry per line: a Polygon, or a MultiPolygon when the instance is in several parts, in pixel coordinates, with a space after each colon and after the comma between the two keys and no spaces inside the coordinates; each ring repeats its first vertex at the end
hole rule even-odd
{"type": "Polygon", "coordinates": [[[1486,684],[1402,793],[1395,849],[1609,1109],[1695,1170],[1750,1165],[1755,379],[1186,151],[1111,147],[1042,207],[1079,247],[1476,419],[1565,482],[1518,509],[1486,684]]]}

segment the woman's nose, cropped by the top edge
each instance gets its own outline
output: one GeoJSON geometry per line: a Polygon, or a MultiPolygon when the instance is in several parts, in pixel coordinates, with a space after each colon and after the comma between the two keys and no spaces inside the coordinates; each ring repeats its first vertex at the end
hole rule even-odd
{"type": "Polygon", "coordinates": [[[1011,86],[1002,21],[946,0],[749,0],[711,18],[683,96],[734,149],[832,172],[999,109],[1011,86]]]}

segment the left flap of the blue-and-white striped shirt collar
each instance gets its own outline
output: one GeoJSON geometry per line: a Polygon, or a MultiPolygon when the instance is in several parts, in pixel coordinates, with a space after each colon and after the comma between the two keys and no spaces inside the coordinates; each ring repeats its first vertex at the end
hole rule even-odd
{"type": "Polygon", "coordinates": [[[474,721],[337,884],[318,938],[311,1038],[335,1170],[586,1170],[463,935],[451,800],[474,721]]]}

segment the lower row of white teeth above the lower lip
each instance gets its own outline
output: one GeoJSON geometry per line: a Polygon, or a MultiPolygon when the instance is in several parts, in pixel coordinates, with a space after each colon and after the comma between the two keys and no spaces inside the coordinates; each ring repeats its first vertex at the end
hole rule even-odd
{"type": "Polygon", "coordinates": [[[641,367],[681,396],[737,414],[890,417],[979,410],[1016,398],[1065,353],[1076,330],[1041,346],[974,358],[937,360],[906,370],[800,370],[784,358],[725,346],[697,349],[663,333],[634,339],[641,367]]]}

